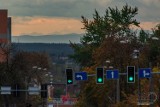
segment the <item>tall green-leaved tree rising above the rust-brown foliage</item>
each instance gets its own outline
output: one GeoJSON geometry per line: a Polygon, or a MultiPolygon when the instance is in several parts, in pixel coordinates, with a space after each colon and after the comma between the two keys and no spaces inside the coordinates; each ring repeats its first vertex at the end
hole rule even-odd
{"type": "Polygon", "coordinates": [[[109,7],[104,16],[100,16],[95,10],[93,20],[82,16],[83,29],[86,34],[81,38],[80,45],[71,43],[75,52],[71,58],[84,67],[92,66],[95,64],[93,52],[107,37],[133,39],[134,32],[130,30],[130,26],[139,26],[139,22],[134,19],[137,12],[137,7],[132,8],[126,4],[121,10],[118,10],[117,7],[109,7]]]}

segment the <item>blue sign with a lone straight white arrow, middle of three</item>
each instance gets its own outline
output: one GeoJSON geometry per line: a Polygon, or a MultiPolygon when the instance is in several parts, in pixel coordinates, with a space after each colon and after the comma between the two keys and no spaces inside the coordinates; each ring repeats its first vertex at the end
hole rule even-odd
{"type": "Polygon", "coordinates": [[[118,79],[119,71],[118,70],[106,70],[106,78],[107,79],[118,79]]]}

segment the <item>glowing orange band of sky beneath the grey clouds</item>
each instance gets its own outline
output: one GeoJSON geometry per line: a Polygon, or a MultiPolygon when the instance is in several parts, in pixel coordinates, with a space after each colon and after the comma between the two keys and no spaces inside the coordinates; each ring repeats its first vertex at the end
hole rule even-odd
{"type": "MultiPolygon", "coordinates": [[[[14,36],[24,34],[47,35],[84,33],[84,30],[81,29],[83,27],[81,20],[73,18],[13,17],[12,20],[12,34],[14,36]]],[[[140,26],[145,30],[151,30],[156,24],[158,23],[141,22],[140,26]]]]}

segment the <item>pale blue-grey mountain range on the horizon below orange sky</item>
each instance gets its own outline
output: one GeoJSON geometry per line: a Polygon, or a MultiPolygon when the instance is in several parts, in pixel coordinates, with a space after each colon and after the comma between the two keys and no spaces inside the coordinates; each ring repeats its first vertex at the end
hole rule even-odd
{"type": "Polygon", "coordinates": [[[65,35],[21,35],[12,36],[14,43],[80,43],[83,34],[65,34],[65,35]]]}

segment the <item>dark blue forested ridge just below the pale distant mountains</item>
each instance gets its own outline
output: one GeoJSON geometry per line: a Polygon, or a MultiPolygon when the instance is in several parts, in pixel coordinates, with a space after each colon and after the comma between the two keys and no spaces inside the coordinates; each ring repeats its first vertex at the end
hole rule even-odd
{"type": "Polygon", "coordinates": [[[27,52],[45,52],[52,56],[73,54],[70,44],[65,43],[12,43],[16,50],[27,52]]]}

